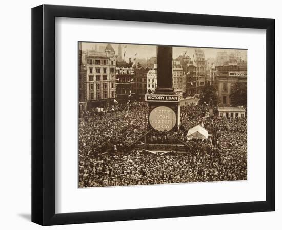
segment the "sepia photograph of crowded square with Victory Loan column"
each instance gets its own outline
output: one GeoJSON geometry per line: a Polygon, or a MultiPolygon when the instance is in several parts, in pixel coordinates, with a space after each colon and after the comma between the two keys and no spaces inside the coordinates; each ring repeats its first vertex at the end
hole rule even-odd
{"type": "Polygon", "coordinates": [[[78,42],[78,188],[247,180],[247,49],[78,42]]]}

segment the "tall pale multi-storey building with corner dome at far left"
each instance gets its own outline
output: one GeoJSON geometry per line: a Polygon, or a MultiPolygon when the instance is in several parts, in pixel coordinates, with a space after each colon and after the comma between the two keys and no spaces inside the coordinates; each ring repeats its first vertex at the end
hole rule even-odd
{"type": "Polygon", "coordinates": [[[104,52],[86,55],[85,99],[87,109],[108,106],[115,98],[115,51],[110,44],[104,52]]]}

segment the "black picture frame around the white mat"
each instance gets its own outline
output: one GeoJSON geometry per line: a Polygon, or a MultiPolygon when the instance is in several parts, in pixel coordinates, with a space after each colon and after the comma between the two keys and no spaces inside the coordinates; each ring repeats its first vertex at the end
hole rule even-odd
{"type": "Polygon", "coordinates": [[[274,211],[275,20],[266,18],[41,5],[32,9],[32,222],[76,224],[274,211]],[[55,17],[266,29],[266,200],[55,213],[55,17]]]}

